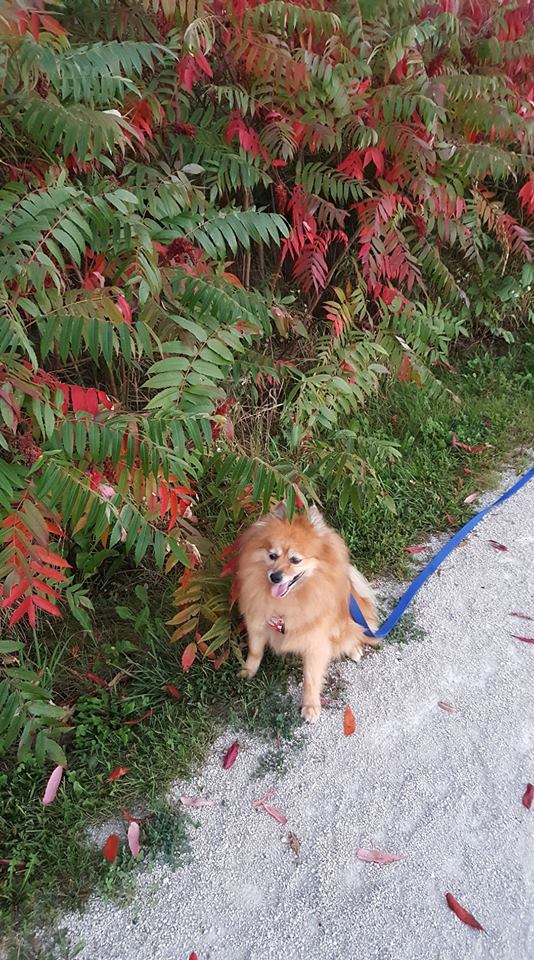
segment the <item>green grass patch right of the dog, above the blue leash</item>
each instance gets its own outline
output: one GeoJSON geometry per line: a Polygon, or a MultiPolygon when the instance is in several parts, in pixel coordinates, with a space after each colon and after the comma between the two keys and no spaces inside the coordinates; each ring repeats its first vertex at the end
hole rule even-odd
{"type": "Polygon", "coordinates": [[[521,468],[518,450],[532,446],[534,345],[509,348],[500,357],[478,353],[443,379],[460,403],[432,400],[414,384],[394,383],[360,418],[362,436],[399,445],[402,458],[381,471],[397,512],[363,498],[359,514],[341,513],[332,494],[325,498],[329,520],[369,575],[406,575],[404,548],[424,543],[433,531],[461,526],[473,512],[465,497],[491,485],[503,462],[515,457],[521,468]],[[470,446],[488,446],[475,454],[453,448],[453,433],[470,446]]]}

